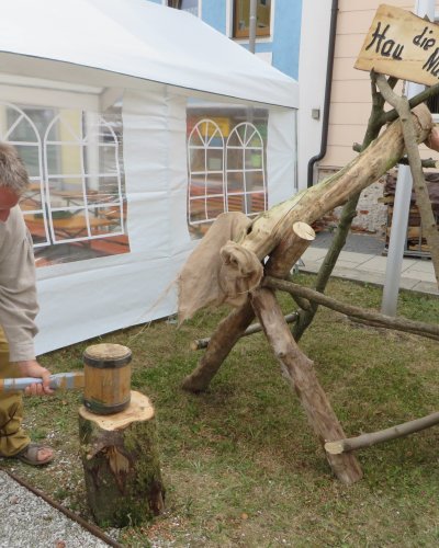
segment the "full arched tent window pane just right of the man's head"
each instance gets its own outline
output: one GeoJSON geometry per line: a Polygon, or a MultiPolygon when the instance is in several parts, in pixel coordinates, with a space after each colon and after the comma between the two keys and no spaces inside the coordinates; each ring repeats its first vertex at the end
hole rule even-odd
{"type": "Polygon", "coordinates": [[[53,243],[123,235],[119,141],[111,125],[98,114],[63,110],[47,126],[44,150],[53,243]]]}

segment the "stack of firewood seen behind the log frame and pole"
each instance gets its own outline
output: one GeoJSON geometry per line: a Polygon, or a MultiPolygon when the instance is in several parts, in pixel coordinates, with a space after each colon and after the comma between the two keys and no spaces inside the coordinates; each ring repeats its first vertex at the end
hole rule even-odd
{"type": "MultiPolygon", "coordinates": [[[[439,227],[439,173],[426,173],[425,175],[428,194],[431,201],[431,207],[436,217],[436,224],[439,227]]],[[[385,233],[385,244],[389,247],[390,235],[392,230],[393,208],[395,199],[396,174],[389,173],[384,184],[383,202],[387,205],[387,226],[385,233]]],[[[408,228],[405,251],[409,255],[427,256],[429,247],[423,235],[423,227],[418,207],[416,206],[416,196],[412,192],[410,209],[408,213],[408,228]]]]}

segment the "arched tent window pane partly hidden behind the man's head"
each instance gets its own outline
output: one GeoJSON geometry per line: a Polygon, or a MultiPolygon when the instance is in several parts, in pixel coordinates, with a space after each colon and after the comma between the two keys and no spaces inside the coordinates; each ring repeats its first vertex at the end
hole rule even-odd
{"type": "MultiPolygon", "coordinates": [[[[38,111],[37,119],[44,123],[45,111],[38,111]]],[[[20,207],[25,219],[40,218],[41,229],[33,235],[34,247],[49,243],[47,217],[45,213],[45,190],[43,176],[43,150],[37,121],[30,113],[11,103],[0,103],[0,140],[15,147],[23,160],[30,179],[30,186],[21,196],[20,207]]]]}

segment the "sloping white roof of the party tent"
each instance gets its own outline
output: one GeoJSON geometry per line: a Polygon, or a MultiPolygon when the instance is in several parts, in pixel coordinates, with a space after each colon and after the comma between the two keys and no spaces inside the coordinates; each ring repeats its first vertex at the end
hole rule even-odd
{"type": "Polygon", "coordinates": [[[146,0],[4,2],[0,62],[22,76],[94,85],[127,85],[128,77],[136,87],[299,106],[296,81],[198,18],[146,0]]]}

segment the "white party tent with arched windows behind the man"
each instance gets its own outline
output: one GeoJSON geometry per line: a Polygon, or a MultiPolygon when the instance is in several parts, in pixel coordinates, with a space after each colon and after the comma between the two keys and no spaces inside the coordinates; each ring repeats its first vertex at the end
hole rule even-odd
{"type": "MultiPolygon", "coordinates": [[[[0,70],[0,139],[18,146],[35,191],[22,207],[41,266],[38,353],[175,312],[170,288],[195,244],[194,100],[266,110],[266,207],[295,191],[297,83],[188,13],[145,0],[14,0],[2,7],[0,70]],[[102,253],[101,241],[123,252],[102,253]],[[61,247],[77,259],[59,259],[61,247]]],[[[210,146],[234,133],[215,119],[200,126],[210,146]]],[[[225,164],[228,152],[212,148],[225,164]]]]}

